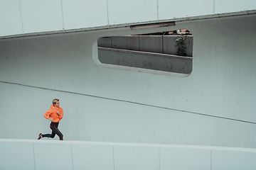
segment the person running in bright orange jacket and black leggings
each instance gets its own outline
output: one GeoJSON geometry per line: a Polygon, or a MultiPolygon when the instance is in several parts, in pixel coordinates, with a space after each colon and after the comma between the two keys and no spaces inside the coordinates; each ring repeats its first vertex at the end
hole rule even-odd
{"type": "Polygon", "coordinates": [[[55,137],[57,134],[60,137],[60,140],[63,140],[63,134],[58,130],[58,124],[63,118],[63,109],[60,108],[60,100],[55,98],[53,99],[53,105],[50,106],[50,109],[43,115],[46,119],[50,120],[50,129],[52,130],[51,134],[39,134],[38,140],[42,137],[55,137]]]}

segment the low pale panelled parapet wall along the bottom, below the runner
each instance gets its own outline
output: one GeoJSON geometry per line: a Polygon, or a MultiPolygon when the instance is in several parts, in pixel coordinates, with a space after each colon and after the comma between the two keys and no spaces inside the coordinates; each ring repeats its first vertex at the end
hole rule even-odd
{"type": "Polygon", "coordinates": [[[0,140],[1,170],[250,170],[255,159],[255,149],[242,148],[0,140]]]}

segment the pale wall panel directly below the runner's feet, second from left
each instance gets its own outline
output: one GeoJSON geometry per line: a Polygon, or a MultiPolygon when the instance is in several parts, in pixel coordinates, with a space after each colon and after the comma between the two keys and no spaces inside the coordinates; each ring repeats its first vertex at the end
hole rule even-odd
{"type": "Polygon", "coordinates": [[[38,141],[33,145],[35,169],[73,169],[71,144],[38,141]]]}

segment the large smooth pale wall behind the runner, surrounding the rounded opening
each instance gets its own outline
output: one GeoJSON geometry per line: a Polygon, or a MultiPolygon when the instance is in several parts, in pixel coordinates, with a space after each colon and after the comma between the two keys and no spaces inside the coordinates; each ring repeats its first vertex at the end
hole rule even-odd
{"type": "Polygon", "coordinates": [[[193,33],[186,78],[96,60],[100,37],[170,28],[0,40],[0,138],[50,132],[43,113],[60,98],[64,140],[255,148],[255,124],[238,121],[256,122],[255,23],[247,16],[172,27],[193,33]]]}

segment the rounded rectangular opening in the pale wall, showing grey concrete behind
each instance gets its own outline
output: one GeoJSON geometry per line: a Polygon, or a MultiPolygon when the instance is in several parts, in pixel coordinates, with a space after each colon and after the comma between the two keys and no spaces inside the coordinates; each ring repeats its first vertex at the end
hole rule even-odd
{"type": "MultiPolygon", "coordinates": [[[[102,37],[98,59],[107,67],[119,66],[153,74],[176,73],[187,77],[193,67],[193,35],[189,30],[102,37]]],[[[116,68],[116,67],[115,67],[116,68]]]]}

